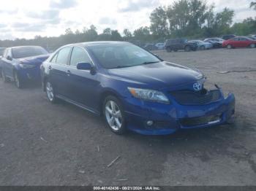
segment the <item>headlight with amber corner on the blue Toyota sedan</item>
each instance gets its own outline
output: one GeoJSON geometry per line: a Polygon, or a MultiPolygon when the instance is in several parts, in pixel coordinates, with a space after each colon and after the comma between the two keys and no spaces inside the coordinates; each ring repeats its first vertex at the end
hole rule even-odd
{"type": "Polygon", "coordinates": [[[145,90],[133,87],[128,87],[128,90],[135,98],[140,98],[147,101],[156,101],[163,104],[170,104],[170,101],[165,96],[165,94],[157,90],[145,90]]]}

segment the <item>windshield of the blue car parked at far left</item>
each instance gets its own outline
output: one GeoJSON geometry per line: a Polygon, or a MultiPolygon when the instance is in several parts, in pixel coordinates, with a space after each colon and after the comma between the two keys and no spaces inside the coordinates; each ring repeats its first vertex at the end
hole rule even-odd
{"type": "Polygon", "coordinates": [[[45,54],[48,54],[48,52],[42,47],[15,47],[12,49],[12,58],[26,58],[45,54]]]}

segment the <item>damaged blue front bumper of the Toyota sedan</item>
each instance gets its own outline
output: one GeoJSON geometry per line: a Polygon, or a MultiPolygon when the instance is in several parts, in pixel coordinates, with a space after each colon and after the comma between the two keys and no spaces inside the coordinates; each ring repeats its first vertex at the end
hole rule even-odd
{"type": "Polygon", "coordinates": [[[159,104],[140,101],[136,98],[124,99],[127,128],[144,135],[167,135],[179,129],[209,128],[231,120],[235,112],[235,96],[200,106],[159,104]],[[147,125],[153,121],[153,125],[147,125]]]}

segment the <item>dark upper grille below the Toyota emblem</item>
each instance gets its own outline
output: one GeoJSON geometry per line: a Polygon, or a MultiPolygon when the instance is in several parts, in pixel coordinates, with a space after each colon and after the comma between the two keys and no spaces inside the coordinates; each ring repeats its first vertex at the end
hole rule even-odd
{"type": "Polygon", "coordinates": [[[218,101],[222,96],[219,90],[204,90],[198,93],[193,91],[176,91],[170,94],[181,105],[211,104],[214,101],[218,101]]]}

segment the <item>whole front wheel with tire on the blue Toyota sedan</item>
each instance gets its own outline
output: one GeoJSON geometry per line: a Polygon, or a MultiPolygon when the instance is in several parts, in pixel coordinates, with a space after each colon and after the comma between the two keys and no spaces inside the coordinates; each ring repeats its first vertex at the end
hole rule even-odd
{"type": "Polygon", "coordinates": [[[118,98],[112,95],[106,97],[102,109],[103,116],[110,130],[118,135],[126,133],[124,109],[118,98]]]}

